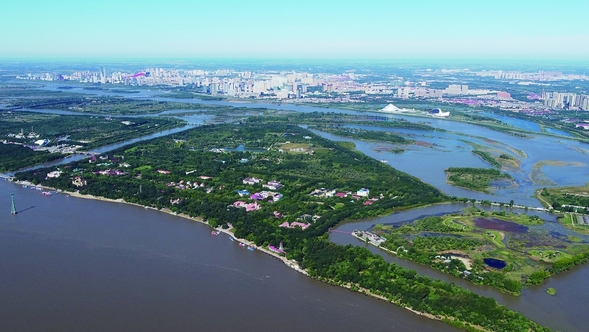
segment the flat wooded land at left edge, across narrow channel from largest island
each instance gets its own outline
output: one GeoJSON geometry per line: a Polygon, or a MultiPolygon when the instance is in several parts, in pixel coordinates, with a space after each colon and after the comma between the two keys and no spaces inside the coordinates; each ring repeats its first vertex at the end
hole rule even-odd
{"type": "Polygon", "coordinates": [[[186,123],[164,117],[110,118],[0,113],[0,172],[48,162],[186,123]]]}

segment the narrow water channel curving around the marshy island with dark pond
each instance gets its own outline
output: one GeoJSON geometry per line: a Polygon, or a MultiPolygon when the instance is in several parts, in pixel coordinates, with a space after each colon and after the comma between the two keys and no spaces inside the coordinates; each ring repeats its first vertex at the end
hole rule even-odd
{"type": "MultiPolygon", "coordinates": [[[[339,225],[336,229],[342,232],[351,232],[353,230],[368,230],[376,224],[394,224],[404,221],[410,221],[422,218],[428,215],[441,215],[455,213],[460,211],[466,205],[463,204],[444,204],[415,209],[411,211],[399,212],[389,216],[351,222],[339,225]]],[[[498,208],[485,208],[498,209],[498,208]]],[[[515,210],[516,212],[523,212],[515,210]]],[[[539,211],[529,211],[528,214],[537,215],[547,220],[547,227],[551,230],[560,231],[562,226],[555,224],[555,216],[539,211]],[[559,227],[560,226],[560,227],[559,227]]],[[[519,297],[504,294],[495,288],[489,286],[477,286],[469,281],[456,278],[449,274],[434,270],[428,266],[413,263],[406,259],[400,259],[384,250],[368,245],[350,234],[330,233],[330,240],[346,245],[365,246],[368,250],[381,255],[385,260],[395,264],[416,270],[418,273],[428,275],[433,278],[442,279],[446,282],[455,283],[463,288],[469,289],[477,294],[492,297],[500,304],[509,307],[512,310],[519,311],[531,318],[532,320],[560,331],[587,331],[589,317],[587,317],[586,304],[589,303],[589,265],[584,264],[573,268],[571,271],[558,274],[551,277],[543,285],[527,287],[522,291],[519,297]],[[548,287],[554,287],[557,291],[556,296],[546,293],[548,287]]]]}

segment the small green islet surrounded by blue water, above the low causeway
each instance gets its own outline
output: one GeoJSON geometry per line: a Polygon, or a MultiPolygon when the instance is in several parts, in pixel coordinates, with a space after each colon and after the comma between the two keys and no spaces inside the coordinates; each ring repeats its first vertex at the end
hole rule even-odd
{"type": "Polygon", "coordinates": [[[509,181],[506,186],[513,185],[511,175],[494,168],[450,167],[445,172],[449,184],[484,193],[490,192],[491,181],[509,181]]]}

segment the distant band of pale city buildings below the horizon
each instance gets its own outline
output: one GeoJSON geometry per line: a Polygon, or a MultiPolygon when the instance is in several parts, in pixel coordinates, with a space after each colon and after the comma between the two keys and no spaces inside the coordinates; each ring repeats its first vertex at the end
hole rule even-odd
{"type": "Polygon", "coordinates": [[[468,69],[418,70],[413,80],[392,75],[388,79],[372,80],[366,74],[352,71],[340,74],[295,71],[254,72],[231,69],[167,69],[147,68],[139,72],[76,71],[28,73],[18,79],[190,88],[195,94],[248,99],[271,99],[281,102],[361,103],[372,99],[429,99],[470,106],[489,106],[511,111],[589,110],[589,95],[573,92],[545,91],[551,82],[589,81],[585,74],[562,72],[519,72],[501,70],[470,71],[468,69]],[[507,91],[472,89],[467,84],[448,84],[445,88],[431,87],[440,76],[465,76],[472,79],[509,81],[518,86],[541,86],[541,92],[530,93],[525,100],[514,99],[507,91]]]}

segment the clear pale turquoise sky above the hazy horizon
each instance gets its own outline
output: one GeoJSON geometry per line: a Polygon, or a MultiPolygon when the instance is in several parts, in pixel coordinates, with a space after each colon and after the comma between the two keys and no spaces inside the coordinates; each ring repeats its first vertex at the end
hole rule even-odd
{"type": "Polygon", "coordinates": [[[587,13],[587,0],[2,0],[0,57],[587,60],[587,13]]]}

